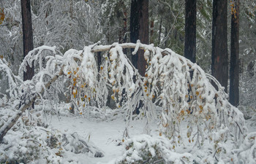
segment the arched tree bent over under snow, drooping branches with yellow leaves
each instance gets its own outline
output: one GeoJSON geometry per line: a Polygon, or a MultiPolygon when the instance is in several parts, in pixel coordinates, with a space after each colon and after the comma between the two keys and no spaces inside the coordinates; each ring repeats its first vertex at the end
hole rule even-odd
{"type": "MultiPolygon", "coordinates": [[[[167,136],[173,144],[184,141],[181,137],[181,122],[187,123],[187,140],[189,143],[195,141],[197,146],[202,145],[206,138],[217,144],[230,136],[234,136],[233,141],[239,144],[246,134],[243,114],[228,102],[219,82],[200,66],[170,49],[163,50],[139,41],[136,44],[98,43],[83,50],[67,50],[64,55],[57,55],[56,47],[39,47],[29,52],[20,71],[25,71],[26,65],[33,62],[36,74],[30,82],[24,83],[26,85],[20,85],[24,91],[21,101],[30,98],[24,101],[27,106],[37,95],[44,98],[42,93],[50,95],[50,90],[58,88],[68,90],[69,95],[72,95],[71,101],[78,112],[83,114],[87,106],[105,106],[108,94],[111,94],[118,107],[127,104],[127,122],[132,120],[132,114],[138,107],[140,117],[146,116],[149,122],[155,110],[153,104],[160,104],[159,136],[167,136]],[[132,54],[139,49],[144,50],[147,60],[144,77],[132,66],[123,52],[124,48],[135,49],[132,54]],[[97,66],[94,52],[103,51],[103,62],[97,66]],[[68,86],[58,85],[59,77],[63,82],[68,82],[68,86]]],[[[50,98],[54,98],[53,95],[50,98]]],[[[26,109],[24,107],[20,111],[26,109]]],[[[19,115],[11,120],[17,121],[19,115]]],[[[7,128],[3,127],[11,128],[12,125],[2,126],[1,133],[7,133],[7,130],[3,130],[7,128]]],[[[215,147],[212,151],[217,149],[215,147]]]]}

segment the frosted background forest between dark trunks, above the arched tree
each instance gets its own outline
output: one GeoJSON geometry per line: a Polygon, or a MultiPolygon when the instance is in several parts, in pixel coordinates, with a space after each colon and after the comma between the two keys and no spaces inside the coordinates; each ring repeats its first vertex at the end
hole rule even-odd
{"type": "MultiPolygon", "coordinates": [[[[150,43],[184,54],[184,1],[149,1],[150,43]]],[[[34,47],[59,45],[61,52],[101,42],[129,42],[130,1],[31,1],[34,47]]],[[[240,4],[240,104],[255,109],[255,2],[240,4]]],[[[228,20],[231,7],[228,9],[228,20]]],[[[1,1],[1,58],[18,74],[23,60],[20,1],[1,1]]],[[[212,1],[197,1],[197,64],[211,72],[212,1]]],[[[228,28],[230,31],[230,21],[228,28]]],[[[227,33],[230,35],[230,32],[227,33]]],[[[227,36],[230,40],[230,36],[227,36]]],[[[230,41],[228,42],[230,43],[230,41]]],[[[230,49],[228,48],[230,51],[230,49]]],[[[230,52],[229,52],[230,54],[230,52]]],[[[129,53],[128,53],[129,55],[129,53]]],[[[3,79],[2,77],[1,79],[3,79]]],[[[1,93],[4,93],[1,82],[1,93]]]]}

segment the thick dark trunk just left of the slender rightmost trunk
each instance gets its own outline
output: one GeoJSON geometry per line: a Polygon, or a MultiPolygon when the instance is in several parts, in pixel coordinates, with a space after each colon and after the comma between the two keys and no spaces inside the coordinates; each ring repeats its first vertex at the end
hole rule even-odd
{"type": "Polygon", "coordinates": [[[211,74],[227,93],[227,1],[214,0],[212,20],[211,74]]]}

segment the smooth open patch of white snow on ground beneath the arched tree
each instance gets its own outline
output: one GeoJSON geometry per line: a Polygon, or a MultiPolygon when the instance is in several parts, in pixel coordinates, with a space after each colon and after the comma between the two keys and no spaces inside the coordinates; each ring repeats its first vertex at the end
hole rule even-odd
{"type": "MultiPolygon", "coordinates": [[[[103,119],[76,115],[59,117],[53,115],[49,119],[51,128],[61,130],[63,133],[77,132],[79,136],[93,143],[104,154],[104,157],[78,154],[77,159],[80,163],[115,163],[118,157],[124,155],[125,148],[122,140],[123,138],[125,140],[126,122],[121,112],[113,112],[112,116],[103,119]]],[[[142,134],[145,125],[143,120],[132,121],[129,125],[129,136],[142,134]]],[[[157,122],[151,122],[151,134],[157,135],[157,122]]]]}

